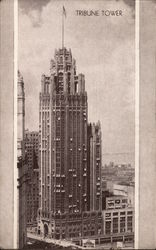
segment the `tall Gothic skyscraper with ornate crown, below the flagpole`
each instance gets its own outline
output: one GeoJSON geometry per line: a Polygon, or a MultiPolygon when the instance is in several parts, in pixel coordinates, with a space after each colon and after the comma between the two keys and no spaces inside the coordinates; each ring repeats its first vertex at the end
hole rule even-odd
{"type": "MultiPolygon", "coordinates": [[[[100,137],[99,132],[92,133],[94,138],[100,137]]],[[[97,157],[94,142],[91,148],[97,157]]],[[[93,194],[96,205],[91,202],[90,206],[88,196],[90,180],[94,179],[95,186],[100,182],[100,168],[98,173],[96,167],[93,178],[89,152],[85,78],[76,74],[71,50],[62,48],[51,60],[50,76],[42,75],[41,80],[38,233],[57,239],[102,233],[101,192],[96,198],[93,194]]]]}

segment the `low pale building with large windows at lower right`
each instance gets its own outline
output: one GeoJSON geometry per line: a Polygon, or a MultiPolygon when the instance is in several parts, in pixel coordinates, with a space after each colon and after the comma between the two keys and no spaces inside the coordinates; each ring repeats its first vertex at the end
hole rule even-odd
{"type": "Polygon", "coordinates": [[[103,213],[105,236],[115,236],[118,241],[134,242],[134,208],[128,197],[106,197],[103,213]]]}

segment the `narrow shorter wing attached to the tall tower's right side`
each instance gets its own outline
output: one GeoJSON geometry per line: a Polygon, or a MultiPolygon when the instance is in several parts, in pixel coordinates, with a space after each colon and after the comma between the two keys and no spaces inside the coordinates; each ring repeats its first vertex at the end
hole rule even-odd
{"type": "Polygon", "coordinates": [[[88,125],[88,204],[91,211],[101,210],[101,126],[97,124],[88,125]]]}

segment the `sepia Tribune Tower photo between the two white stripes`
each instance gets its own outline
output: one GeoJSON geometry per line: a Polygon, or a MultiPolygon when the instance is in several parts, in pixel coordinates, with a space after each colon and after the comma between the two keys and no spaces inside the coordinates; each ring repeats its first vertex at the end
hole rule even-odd
{"type": "Polygon", "coordinates": [[[19,0],[17,247],[134,249],[135,1],[19,0]]]}

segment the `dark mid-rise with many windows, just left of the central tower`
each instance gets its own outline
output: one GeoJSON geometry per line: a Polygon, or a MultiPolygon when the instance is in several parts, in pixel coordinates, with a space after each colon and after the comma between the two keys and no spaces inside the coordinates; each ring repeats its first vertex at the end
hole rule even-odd
{"type": "Polygon", "coordinates": [[[27,226],[37,225],[37,211],[39,208],[38,146],[38,132],[26,130],[25,150],[28,166],[27,226]]]}

